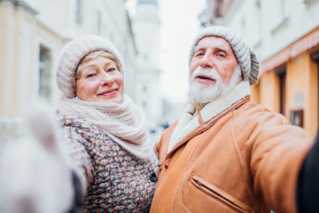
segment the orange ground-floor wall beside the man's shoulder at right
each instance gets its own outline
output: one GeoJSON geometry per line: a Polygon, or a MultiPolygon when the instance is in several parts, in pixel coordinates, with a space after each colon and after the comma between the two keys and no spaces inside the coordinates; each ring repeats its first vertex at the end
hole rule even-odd
{"type": "MultiPolygon", "coordinates": [[[[290,119],[292,110],[302,109],[304,112],[303,128],[313,137],[318,130],[318,67],[310,59],[311,51],[305,51],[286,66],[286,88],[284,116],[290,119]],[[302,94],[303,101],[300,101],[302,94]],[[299,101],[297,101],[297,99],[299,101]]],[[[252,89],[253,99],[279,113],[279,82],[275,69],[261,75],[260,83],[252,89]],[[259,94],[258,94],[259,92],[259,94]]]]}

